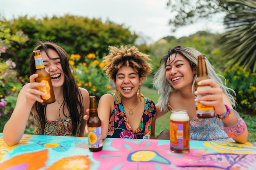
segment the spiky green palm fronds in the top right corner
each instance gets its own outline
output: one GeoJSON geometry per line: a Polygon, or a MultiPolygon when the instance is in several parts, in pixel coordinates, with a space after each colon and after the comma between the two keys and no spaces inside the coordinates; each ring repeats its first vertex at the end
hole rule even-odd
{"type": "Polygon", "coordinates": [[[256,1],[223,0],[230,4],[225,17],[226,33],[220,38],[224,56],[221,61],[235,63],[252,72],[256,71],[256,1]]]}

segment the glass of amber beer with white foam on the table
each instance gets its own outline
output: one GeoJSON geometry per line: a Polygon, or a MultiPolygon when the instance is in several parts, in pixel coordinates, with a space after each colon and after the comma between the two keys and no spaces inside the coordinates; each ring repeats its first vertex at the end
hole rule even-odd
{"type": "Polygon", "coordinates": [[[170,146],[173,153],[189,153],[189,115],[186,110],[172,110],[170,146]]]}

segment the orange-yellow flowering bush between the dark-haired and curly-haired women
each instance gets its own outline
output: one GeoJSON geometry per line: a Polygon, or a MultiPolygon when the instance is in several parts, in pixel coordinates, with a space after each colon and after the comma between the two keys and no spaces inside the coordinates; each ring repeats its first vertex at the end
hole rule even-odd
{"type": "Polygon", "coordinates": [[[88,90],[90,95],[97,96],[97,99],[114,89],[106,76],[103,68],[107,62],[102,62],[97,54],[87,54],[81,61],[80,55],[72,54],[70,64],[74,70],[75,80],[79,87],[88,90]],[[79,57],[78,57],[79,56],[79,57]]]}

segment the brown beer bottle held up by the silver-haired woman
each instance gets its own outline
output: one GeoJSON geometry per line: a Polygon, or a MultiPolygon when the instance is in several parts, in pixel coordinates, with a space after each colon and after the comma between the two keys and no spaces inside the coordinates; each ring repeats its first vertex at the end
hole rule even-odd
{"type": "MultiPolygon", "coordinates": [[[[208,73],[207,73],[207,67],[205,63],[205,56],[199,55],[198,56],[198,76],[195,79],[195,91],[211,87],[209,85],[198,85],[199,81],[202,81],[205,79],[209,79],[208,73]]],[[[197,97],[200,98],[205,95],[208,95],[208,94],[200,94],[200,95],[197,95],[197,97]]],[[[196,116],[198,118],[214,117],[214,108],[212,106],[205,106],[205,105],[202,105],[202,103],[200,102],[195,102],[195,106],[196,106],[196,116]]]]}

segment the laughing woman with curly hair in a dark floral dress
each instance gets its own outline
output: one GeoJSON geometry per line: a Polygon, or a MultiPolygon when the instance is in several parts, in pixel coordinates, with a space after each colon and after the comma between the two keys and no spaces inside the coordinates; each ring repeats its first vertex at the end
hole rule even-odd
{"type": "Polygon", "coordinates": [[[149,56],[139,52],[135,46],[110,46],[109,50],[108,56],[103,58],[103,62],[108,62],[104,71],[115,83],[116,92],[104,94],[99,100],[103,139],[149,139],[156,113],[155,103],[141,96],[143,77],[151,72],[149,56]]]}

